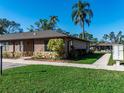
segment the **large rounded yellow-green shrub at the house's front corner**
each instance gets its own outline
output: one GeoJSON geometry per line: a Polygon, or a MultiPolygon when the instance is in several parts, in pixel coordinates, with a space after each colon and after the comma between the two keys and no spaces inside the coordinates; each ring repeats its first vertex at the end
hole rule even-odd
{"type": "Polygon", "coordinates": [[[60,56],[64,53],[64,40],[63,39],[50,39],[47,45],[50,51],[57,52],[60,56]]]}

